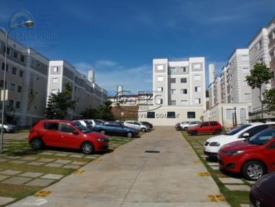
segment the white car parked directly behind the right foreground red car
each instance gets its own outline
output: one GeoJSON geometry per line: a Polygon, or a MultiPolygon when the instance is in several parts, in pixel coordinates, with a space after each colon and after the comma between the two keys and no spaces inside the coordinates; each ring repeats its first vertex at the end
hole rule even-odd
{"type": "Polygon", "coordinates": [[[218,136],[213,136],[208,138],[208,140],[203,145],[203,152],[207,156],[216,157],[219,149],[228,143],[233,143],[236,141],[243,141],[246,138],[254,136],[258,132],[265,130],[268,126],[274,125],[275,122],[268,123],[245,123],[239,127],[234,128],[226,134],[220,134],[218,136]]]}

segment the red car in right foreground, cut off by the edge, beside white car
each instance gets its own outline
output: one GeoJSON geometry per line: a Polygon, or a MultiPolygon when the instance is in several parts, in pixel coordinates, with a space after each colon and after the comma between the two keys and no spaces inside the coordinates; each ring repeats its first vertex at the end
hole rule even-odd
{"type": "Polygon", "coordinates": [[[248,180],[258,180],[275,171],[275,128],[263,130],[246,141],[237,141],[219,149],[221,169],[242,173],[248,180]]]}

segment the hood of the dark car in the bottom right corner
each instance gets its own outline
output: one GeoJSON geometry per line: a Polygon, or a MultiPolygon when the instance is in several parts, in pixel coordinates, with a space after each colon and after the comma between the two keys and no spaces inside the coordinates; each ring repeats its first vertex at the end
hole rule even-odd
{"type": "Polygon", "coordinates": [[[274,185],[275,185],[275,173],[270,173],[263,176],[254,184],[256,188],[258,188],[260,191],[265,193],[265,195],[270,197],[270,199],[273,199],[275,202],[274,185]]]}

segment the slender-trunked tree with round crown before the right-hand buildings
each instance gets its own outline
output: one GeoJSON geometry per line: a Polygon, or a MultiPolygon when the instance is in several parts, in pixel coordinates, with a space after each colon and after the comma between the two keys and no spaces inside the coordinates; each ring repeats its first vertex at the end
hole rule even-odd
{"type": "Polygon", "coordinates": [[[270,79],[272,79],[273,73],[263,63],[256,63],[254,68],[250,71],[250,75],[246,76],[246,81],[248,85],[254,89],[258,88],[260,91],[259,99],[261,101],[261,115],[263,119],[263,97],[262,97],[262,86],[263,84],[268,84],[270,79]]]}

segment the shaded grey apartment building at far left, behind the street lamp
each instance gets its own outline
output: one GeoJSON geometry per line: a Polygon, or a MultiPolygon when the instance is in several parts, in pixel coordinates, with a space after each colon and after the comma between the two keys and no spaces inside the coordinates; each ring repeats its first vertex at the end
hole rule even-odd
{"type": "MultiPolygon", "coordinates": [[[[24,127],[44,117],[49,60],[11,38],[7,53],[5,117],[6,121],[24,127]]],[[[4,58],[5,34],[0,31],[1,90],[4,58]]]]}

